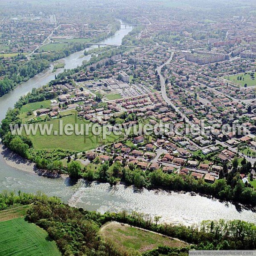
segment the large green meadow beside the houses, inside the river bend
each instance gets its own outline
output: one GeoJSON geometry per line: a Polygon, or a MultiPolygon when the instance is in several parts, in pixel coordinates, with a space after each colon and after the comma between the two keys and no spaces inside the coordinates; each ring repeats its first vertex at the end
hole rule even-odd
{"type": "MultiPolygon", "coordinates": [[[[80,124],[89,123],[89,121],[86,121],[85,119],[76,118],[76,115],[63,116],[61,119],[63,120],[63,127],[65,127],[65,125],[67,124],[74,125],[75,123],[77,123],[79,125],[79,131],[80,124]]],[[[96,148],[97,146],[104,143],[119,140],[119,136],[116,136],[113,133],[106,136],[105,140],[102,140],[102,135],[94,135],[91,131],[91,128],[89,129],[88,135],[85,136],[76,135],[75,133],[70,136],[65,135],[64,133],[63,135],[54,135],[54,131],[59,131],[59,121],[60,119],[52,119],[50,121],[42,123],[48,125],[52,124],[52,132],[49,136],[47,136],[46,133],[45,135],[41,135],[39,129],[35,136],[30,135],[35,149],[62,148],[73,151],[83,151],[96,148]]]]}

